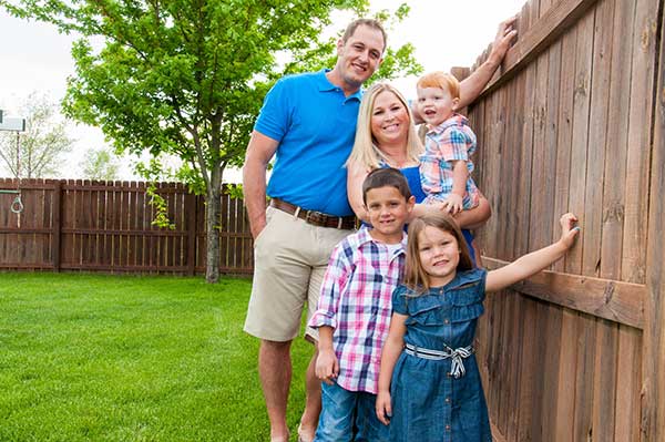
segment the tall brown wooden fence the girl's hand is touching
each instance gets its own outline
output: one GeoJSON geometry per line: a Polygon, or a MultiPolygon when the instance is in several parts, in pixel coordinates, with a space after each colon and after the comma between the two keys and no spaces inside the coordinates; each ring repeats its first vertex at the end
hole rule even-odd
{"type": "Polygon", "coordinates": [[[469,109],[493,208],[485,266],[556,239],[565,212],[582,226],[551,271],[488,299],[479,362],[499,440],[665,441],[663,8],[529,1],[469,109]]]}

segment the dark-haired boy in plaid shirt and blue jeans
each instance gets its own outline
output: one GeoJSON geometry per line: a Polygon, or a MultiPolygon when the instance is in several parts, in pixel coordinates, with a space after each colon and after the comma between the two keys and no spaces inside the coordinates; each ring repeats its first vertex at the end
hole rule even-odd
{"type": "Polygon", "coordinates": [[[337,245],[309,326],[318,328],[316,374],[323,410],[315,441],[387,441],[375,402],[381,348],[388,336],[392,290],[401,280],[407,235],[403,226],[415,198],[395,168],[372,171],[362,183],[372,227],[337,245]]]}

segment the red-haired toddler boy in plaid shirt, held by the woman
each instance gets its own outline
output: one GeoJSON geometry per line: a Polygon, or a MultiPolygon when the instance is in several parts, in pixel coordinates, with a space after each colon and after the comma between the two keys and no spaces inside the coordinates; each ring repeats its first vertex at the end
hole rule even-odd
{"type": "Polygon", "coordinates": [[[423,203],[443,203],[452,214],[478,205],[479,193],[471,178],[475,134],[469,121],[454,112],[460,101],[460,83],[444,72],[418,80],[418,113],[429,131],[420,157],[420,181],[428,195],[423,203]]]}

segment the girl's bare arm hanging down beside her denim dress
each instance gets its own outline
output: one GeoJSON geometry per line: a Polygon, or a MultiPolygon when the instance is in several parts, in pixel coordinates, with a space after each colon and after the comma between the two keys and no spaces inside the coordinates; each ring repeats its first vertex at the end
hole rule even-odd
{"type": "Polygon", "coordinates": [[[395,370],[397,358],[399,358],[405,347],[405,335],[407,332],[405,321],[407,318],[408,316],[406,315],[392,313],[390,330],[388,331],[388,338],[386,338],[381,353],[381,370],[379,371],[379,392],[377,394],[376,409],[377,418],[386,425],[390,423],[390,417],[392,415],[390,380],[392,379],[392,370],[395,370]]]}

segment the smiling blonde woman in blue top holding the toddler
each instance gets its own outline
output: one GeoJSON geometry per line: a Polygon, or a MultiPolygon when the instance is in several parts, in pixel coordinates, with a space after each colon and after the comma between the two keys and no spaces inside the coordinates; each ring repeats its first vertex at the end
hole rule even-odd
{"type": "MultiPolygon", "coordinates": [[[[421,153],[422,144],[418,138],[413,117],[402,94],[390,84],[374,84],[362,96],[358,112],[356,141],[347,161],[347,192],[356,216],[367,222],[362,204],[362,182],[367,174],[377,167],[399,168],[409,182],[416,203],[421,203],[426,196],[420,186],[418,171],[418,157],[421,153]]],[[[412,216],[420,216],[431,209],[442,210],[443,205],[416,204],[412,216]]],[[[462,227],[474,260],[477,254],[473,250],[473,235],[468,229],[482,226],[490,215],[490,204],[481,195],[480,203],[475,208],[462,210],[454,217],[462,227]]]]}

